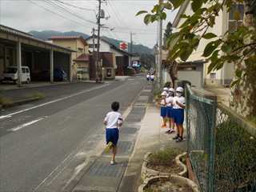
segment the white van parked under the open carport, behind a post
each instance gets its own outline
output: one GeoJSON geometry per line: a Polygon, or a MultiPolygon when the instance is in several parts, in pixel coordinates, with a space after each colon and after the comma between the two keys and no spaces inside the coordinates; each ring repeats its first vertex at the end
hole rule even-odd
{"type": "MultiPolygon", "coordinates": [[[[8,66],[2,75],[2,82],[14,82],[18,81],[18,68],[17,66],[8,66]]],[[[22,66],[22,82],[30,83],[30,68],[28,66],[22,66]]]]}

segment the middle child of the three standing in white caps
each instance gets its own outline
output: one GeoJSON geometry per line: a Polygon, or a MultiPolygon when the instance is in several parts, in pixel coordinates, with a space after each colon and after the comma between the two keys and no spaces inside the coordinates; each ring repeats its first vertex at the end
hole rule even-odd
{"type": "Polygon", "coordinates": [[[167,107],[167,121],[169,122],[169,129],[166,131],[166,134],[172,134],[174,130],[174,118],[173,118],[173,102],[174,102],[174,88],[169,89],[168,97],[166,98],[166,107],[167,107]]]}

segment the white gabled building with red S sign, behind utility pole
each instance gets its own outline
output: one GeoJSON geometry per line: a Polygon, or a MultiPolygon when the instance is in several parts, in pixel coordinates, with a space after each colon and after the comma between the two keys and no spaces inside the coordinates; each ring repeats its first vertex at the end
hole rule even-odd
{"type": "MultiPolygon", "coordinates": [[[[89,44],[90,52],[97,50],[97,37],[90,37],[86,39],[86,42],[89,44]]],[[[100,50],[101,53],[112,53],[114,54],[115,63],[116,63],[116,74],[125,75],[126,69],[129,66],[131,54],[124,50],[120,50],[117,46],[110,43],[106,38],[100,38],[100,50]]],[[[103,63],[104,66],[104,63],[103,63]]]]}

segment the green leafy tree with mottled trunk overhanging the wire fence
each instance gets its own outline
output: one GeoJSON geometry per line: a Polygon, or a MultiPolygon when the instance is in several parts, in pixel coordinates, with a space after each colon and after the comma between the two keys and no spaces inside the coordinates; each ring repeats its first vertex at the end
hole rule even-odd
{"type": "MultiPolygon", "coordinates": [[[[219,70],[225,63],[234,63],[234,81],[231,83],[230,106],[243,116],[256,116],[256,1],[255,0],[168,0],[154,6],[150,12],[142,10],[138,14],[146,14],[144,22],[149,24],[160,19],[166,19],[166,11],[178,9],[182,3],[189,1],[193,14],[183,14],[185,22],[179,27],[179,32],[173,33],[167,39],[168,59],[185,62],[202,39],[210,42],[205,46],[203,57],[210,62],[208,73],[219,70]],[[216,17],[222,11],[230,12],[236,4],[244,5],[243,24],[235,29],[227,30],[218,37],[210,33],[216,17]]],[[[239,20],[238,9],[234,18],[239,20]]]]}

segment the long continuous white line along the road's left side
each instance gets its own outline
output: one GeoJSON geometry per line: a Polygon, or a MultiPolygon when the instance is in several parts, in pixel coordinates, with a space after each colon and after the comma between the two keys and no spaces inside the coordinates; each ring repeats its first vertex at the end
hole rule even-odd
{"type": "Polygon", "coordinates": [[[110,85],[110,84],[106,84],[106,85],[98,86],[98,87],[95,87],[95,88],[92,88],[92,89],[89,89],[89,90],[83,90],[83,91],[80,91],[80,92],[78,92],[78,93],[76,93],[76,94],[70,94],[69,96],[66,96],[66,97],[63,97],[63,98],[58,98],[58,99],[53,100],[53,101],[50,101],[50,102],[42,103],[42,104],[40,104],[40,105],[38,105],[38,106],[32,106],[32,107],[27,108],[27,109],[25,109],[25,110],[18,110],[18,111],[14,112],[14,113],[11,113],[11,114],[2,115],[2,116],[0,116],[0,119],[3,119],[3,118],[11,118],[14,114],[21,114],[21,113],[23,113],[23,112],[25,112],[25,111],[28,111],[28,110],[34,110],[34,109],[36,109],[36,108],[38,108],[38,107],[46,106],[46,105],[49,105],[49,104],[51,104],[51,103],[53,103],[53,102],[60,102],[60,101],[65,100],[65,99],[67,99],[67,98],[72,98],[72,97],[77,96],[77,95],[79,95],[79,94],[84,94],[84,93],[86,93],[86,92],[90,92],[90,91],[92,91],[92,90],[98,90],[98,89],[100,89],[100,88],[102,88],[102,87],[104,87],[104,86],[109,86],[109,85],[110,85]]]}

